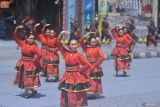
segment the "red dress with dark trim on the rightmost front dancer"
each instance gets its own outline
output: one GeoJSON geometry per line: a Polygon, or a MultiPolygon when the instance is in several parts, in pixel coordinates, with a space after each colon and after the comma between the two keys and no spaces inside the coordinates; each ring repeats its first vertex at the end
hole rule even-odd
{"type": "Polygon", "coordinates": [[[117,32],[112,29],[111,30],[112,36],[116,40],[116,46],[112,50],[111,56],[115,58],[115,69],[118,71],[128,71],[128,64],[129,64],[129,52],[128,47],[132,43],[127,36],[118,36],[117,32]]]}

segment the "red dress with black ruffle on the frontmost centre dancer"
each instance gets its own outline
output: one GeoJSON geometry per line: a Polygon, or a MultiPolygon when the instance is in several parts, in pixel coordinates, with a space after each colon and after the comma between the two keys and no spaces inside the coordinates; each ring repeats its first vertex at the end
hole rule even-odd
{"type": "Polygon", "coordinates": [[[90,67],[89,62],[78,52],[71,52],[60,43],[59,49],[65,60],[65,73],[58,89],[61,91],[62,107],[87,106],[86,91],[89,90],[89,78],[83,75],[90,67]]]}

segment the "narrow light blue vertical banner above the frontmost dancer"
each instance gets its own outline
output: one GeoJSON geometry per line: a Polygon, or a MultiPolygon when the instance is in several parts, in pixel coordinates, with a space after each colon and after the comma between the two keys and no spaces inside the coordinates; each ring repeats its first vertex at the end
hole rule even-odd
{"type": "Polygon", "coordinates": [[[71,23],[75,18],[75,0],[68,0],[68,31],[71,29],[71,23]]]}

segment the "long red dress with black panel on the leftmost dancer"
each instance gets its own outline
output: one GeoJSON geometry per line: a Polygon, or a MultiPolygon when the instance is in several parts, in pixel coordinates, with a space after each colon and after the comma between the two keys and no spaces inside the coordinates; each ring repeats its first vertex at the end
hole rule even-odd
{"type": "Polygon", "coordinates": [[[38,61],[41,58],[41,51],[33,44],[29,45],[17,38],[16,32],[13,34],[16,43],[21,47],[21,59],[16,64],[17,74],[14,84],[19,88],[33,88],[40,86],[38,61]]]}

